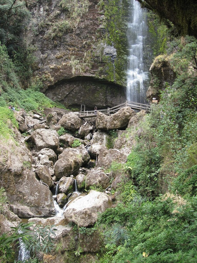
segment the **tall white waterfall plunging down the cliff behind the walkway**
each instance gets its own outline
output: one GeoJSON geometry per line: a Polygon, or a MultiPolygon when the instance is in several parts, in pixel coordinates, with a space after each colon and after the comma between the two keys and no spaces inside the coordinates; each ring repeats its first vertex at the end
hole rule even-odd
{"type": "Polygon", "coordinates": [[[143,71],[143,36],[146,34],[146,11],[138,1],[130,0],[130,17],[128,20],[128,69],[127,69],[127,100],[144,103],[146,90],[144,80],[148,78],[143,71]]]}

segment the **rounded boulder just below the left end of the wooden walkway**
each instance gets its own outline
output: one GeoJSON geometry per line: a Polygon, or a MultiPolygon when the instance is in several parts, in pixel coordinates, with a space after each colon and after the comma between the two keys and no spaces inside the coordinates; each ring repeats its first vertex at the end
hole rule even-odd
{"type": "Polygon", "coordinates": [[[65,129],[76,131],[79,130],[83,124],[83,120],[73,113],[68,113],[63,115],[58,124],[65,129]]]}

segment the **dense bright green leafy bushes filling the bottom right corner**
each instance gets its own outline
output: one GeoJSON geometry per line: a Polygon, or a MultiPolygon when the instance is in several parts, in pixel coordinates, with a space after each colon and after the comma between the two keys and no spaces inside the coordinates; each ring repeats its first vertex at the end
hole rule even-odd
{"type": "Polygon", "coordinates": [[[195,262],[196,205],[196,197],[185,204],[178,196],[163,196],[153,202],[135,199],[126,206],[107,209],[99,219],[105,223],[107,242],[99,262],[108,262],[109,254],[113,263],[195,262]]]}

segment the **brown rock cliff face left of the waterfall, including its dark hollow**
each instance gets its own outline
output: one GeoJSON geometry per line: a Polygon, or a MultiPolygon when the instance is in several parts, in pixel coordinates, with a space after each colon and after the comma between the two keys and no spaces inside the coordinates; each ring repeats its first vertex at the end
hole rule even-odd
{"type": "MultiPolygon", "coordinates": [[[[126,51],[118,50],[124,47],[117,44],[115,48],[115,40],[106,38],[110,36],[106,23],[113,19],[113,6],[108,8],[108,1],[102,3],[41,0],[29,6],[28,41],[37,61],[34,78],[43,82],[42,92],[69,108],[80,104],[113,107],[125,101],[126,51]]],[[[125,19],[122,15],[116,20],[122,23],[125,19]]],[[[121,38],[126,43],[123,35],[121,38]]]]}

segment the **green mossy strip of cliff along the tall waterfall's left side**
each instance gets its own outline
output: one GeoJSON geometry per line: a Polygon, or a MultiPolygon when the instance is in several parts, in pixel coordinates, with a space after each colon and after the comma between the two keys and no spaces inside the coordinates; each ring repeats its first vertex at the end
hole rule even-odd
{"type": "Polygon", "coordinates": [[[104,8],[105,11],[103,26],[108,33],[104,36],[103,41],[108,45],[114,45],[117,52],[114,61],[111,61],[111,58],[107,55],[102,57],[103,62],[105,62],[105,78],[125,85],[127,69],[127,28],[125,24],[128,17],[129,3],[127,0],[110,0],[105,2],[105,6],[100,1],[98,6],[104,8]]]}

